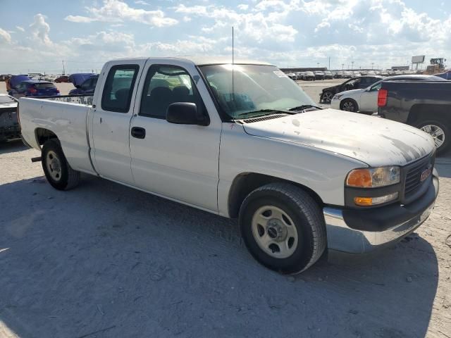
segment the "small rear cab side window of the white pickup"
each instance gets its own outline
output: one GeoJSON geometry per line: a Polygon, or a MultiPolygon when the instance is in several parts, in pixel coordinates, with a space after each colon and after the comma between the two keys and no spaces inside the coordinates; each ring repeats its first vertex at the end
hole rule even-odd
{"type": "Polygon", "coordinates": [[[101,95],[104,111],[128,113],[139,65],[114,65],[106,77],[101,95]]]}

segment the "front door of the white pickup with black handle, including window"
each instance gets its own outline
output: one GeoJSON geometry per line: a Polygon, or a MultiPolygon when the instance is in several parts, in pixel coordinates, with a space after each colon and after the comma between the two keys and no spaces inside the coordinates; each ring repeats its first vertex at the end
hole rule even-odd
{"type": "Polygon", "coordinates": [[[133,177],[141,189],[217,211],[222,123],[194,65],[173,63],[144,69],[130,124],[133,177]],[[195,103],[209,125],[168,123],[166,110],[175,102],[195,103]]]}

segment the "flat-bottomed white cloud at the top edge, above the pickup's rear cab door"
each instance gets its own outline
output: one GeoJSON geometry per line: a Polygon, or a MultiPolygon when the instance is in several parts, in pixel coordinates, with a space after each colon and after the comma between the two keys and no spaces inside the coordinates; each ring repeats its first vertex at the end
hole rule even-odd
{"type": "Polygon", "coordinates": [[[132,8],[121,0],[104,0],[103,6],[87,7],[89,16],[68,15],[65,20],[76,23],[89,23],[92,21],[121,23],[125,20],[144,23],[155,27],[172,26],[178,23],[178,20],[167,18],[163,11],[146,11],[140,8],[132,8]]]}

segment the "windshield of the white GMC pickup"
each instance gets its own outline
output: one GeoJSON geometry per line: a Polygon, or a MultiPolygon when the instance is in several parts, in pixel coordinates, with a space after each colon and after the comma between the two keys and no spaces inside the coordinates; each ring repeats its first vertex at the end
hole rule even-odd
{"type": "Polygon", "coordinates": [[[231,119],[242,118],[247,113],[247,117],[252,117],[315,105],[296,82],[272,65],[224,64],[199,68],[216,101],[231,119]]]}

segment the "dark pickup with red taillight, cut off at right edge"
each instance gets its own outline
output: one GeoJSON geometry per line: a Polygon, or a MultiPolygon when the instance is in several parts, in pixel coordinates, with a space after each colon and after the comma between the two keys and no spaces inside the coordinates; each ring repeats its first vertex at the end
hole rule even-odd
{"type": "Polygon", "coordinates": [[[417,127],[434,138],[437,153],[451,146],[451,82],[381,82],[378,115],[417,127]]]}

